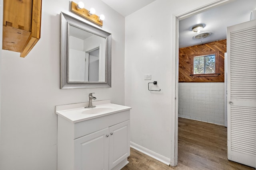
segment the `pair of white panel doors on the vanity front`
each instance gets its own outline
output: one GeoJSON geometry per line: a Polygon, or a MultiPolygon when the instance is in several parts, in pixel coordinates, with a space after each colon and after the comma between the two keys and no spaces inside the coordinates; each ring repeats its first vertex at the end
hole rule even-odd
{"type": "Polygon", "coordinates": [[[75,170],[111,170],[126,160],[130,155],[129,129],[128,120],[75,139],[75,170]]]}

